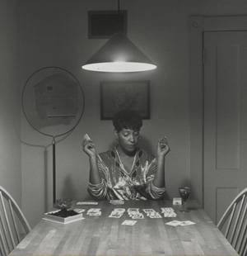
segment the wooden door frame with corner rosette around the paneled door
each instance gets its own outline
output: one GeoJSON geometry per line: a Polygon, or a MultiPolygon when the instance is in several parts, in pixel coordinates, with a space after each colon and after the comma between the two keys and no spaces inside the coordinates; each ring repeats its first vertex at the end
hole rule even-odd
{"type": "Polygon", "coordinates": [[[204,206],[203,35],[209,31],[247,31],[247,16],[189,17],[190,183],[193,198],[204,206]]]}

